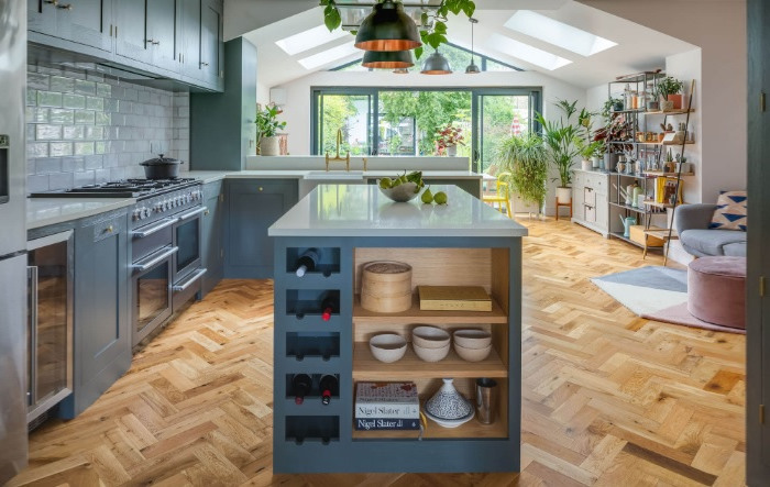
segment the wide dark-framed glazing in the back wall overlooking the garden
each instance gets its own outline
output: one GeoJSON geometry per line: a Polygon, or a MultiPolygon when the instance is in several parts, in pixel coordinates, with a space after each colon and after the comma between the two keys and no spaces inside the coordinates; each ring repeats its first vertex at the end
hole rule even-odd
{"type": "Polygon", "coordinates": [[[442,155],[438,132],[459,129],[458,155],[474,170],[494,165],[496,147],[513,134],[539,130],[540,90],[530,88],[314,88],[312,153],[442,155]]]}

